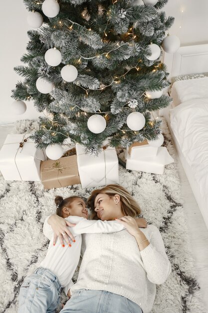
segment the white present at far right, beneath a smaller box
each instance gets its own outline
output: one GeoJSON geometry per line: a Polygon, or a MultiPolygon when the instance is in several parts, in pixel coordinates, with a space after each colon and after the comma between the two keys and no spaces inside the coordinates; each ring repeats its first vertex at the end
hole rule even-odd
{"type": "Polygon", "coordinates": [[[165,146],[158,148],[158,153],[153,157],[132,159],[127,155],[126,169],[141,170],[148,173],[163,174],[165,165],[174,162],[165,146]]]}

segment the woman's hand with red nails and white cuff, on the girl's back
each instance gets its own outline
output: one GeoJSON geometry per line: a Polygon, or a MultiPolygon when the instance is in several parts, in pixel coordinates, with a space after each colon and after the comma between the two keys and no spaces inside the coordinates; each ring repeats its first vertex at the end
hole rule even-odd
{"type": "MultiPolygon", "coordinates": [[[[60,235],[63,232],[66,232],[67,235],[75,241],[73,234],[67,228],[67,226],[75,226],[76,224],[70,223],[63,217],[60,217],[56,214],[53,214],[49,217],[46,217],[43,224],[43,233],[50,240],[53,234],[53,244],[56,243],[57,237],[59,237],[60,243],[63,244],[63,237],[60,235]]],[[[68,244],[71,244],[68,236],[65,236],[64,239],[68,244]]]]}

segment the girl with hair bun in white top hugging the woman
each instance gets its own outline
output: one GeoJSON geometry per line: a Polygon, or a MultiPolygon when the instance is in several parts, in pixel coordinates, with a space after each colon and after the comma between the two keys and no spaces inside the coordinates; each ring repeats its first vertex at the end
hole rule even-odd
{"type": "MultiPolygon", "coordinates": [[[[61,287],[66,294],[70,294],[69,289],[73,285],[71,278],[80,258],[82,233],[110,233],[125,228],[117,221],[87,220],[86,203],[81,197],[71,196],[63,199],[56,196],[55,203],[57,215],[66,218],[74,244],[65,246],[63,243],[69,229],[57,234],[62,244],[55,244],[55,238],[50,240],[40,267],[26,277],[20,287],[19,313],[55,312],[60,301],[61,287]]],[[[143,222],[143,219],[141,221],[143,222]]]]}

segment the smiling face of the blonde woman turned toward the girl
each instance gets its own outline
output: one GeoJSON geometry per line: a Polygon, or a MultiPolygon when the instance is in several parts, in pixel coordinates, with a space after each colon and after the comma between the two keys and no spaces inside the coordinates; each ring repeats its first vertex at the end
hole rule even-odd
{"type": "Polygon", "coordinates": [[[124,216],[118,194],[110,197],[106,193],[98,193],[94,201],[94,206],[95,212],[101,220],[114,220],[115,218],[124,216]]]}

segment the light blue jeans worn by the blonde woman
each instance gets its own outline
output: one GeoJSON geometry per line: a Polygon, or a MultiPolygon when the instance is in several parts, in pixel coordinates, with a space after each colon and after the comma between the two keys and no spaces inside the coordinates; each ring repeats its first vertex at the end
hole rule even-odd
{"type": "Polygon", "coordinates": [[[102,290],[79,289],[60,313],[142,313],[141,307],[126,297],[102,290]]]}

